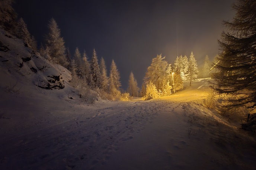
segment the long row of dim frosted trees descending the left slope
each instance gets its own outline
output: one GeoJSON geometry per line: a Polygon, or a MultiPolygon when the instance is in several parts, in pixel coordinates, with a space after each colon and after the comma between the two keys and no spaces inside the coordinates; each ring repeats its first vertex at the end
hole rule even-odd
{"type": "MultiPolygon", "coordinates": [[[[0,24],[3,29],[15,35],[17,38],[24,40],[25,44],[37,51],[37,42],[30,35],[27,25],[20,18],[18,21],[17,14],[12,8],[13,0],[2,0],[0,3],[0,24]]],[[[73,80],[71,84],[79,89],[92,89],[98,94],[108,99],[127,99],[128,94],[122,95],[120,92],[120,74],[115,62],[112,60],[109,76],[105,61],[103,58],[98,64],[98,59],[95,49],[91,60],[88,60],[86,52],[81,53],[76,48],[72,56],[70,50],[65,48],[64,39],[61,37],[60,29],[57,22],[51,19],[48,24],[48,34],[45,36],[45,43],[41,43],[39,53],[44,58],[54,64],[64,66],[71,71],[73,80]]],[[[129,87],[127,91],[131,96],[138,96],[137,81],[133,73],[129,77],[129,87]]],[[[86,90],[88,92],[88,90],[86,90]]],[[[86,94],[87,95],[87,94],[86,94]]],[[[80,94],[81,96],[81,94],[80,94]]]]}

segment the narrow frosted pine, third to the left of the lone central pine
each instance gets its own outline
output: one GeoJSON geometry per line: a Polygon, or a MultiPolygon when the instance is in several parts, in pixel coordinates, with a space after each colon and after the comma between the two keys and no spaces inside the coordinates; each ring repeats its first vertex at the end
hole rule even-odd
{"type": "Polygon", "coordinates": [[[90,82],[90,86],[92,88],[100,87],[101,84],[101,75],[100,75],[100,68],[98,64],[98,59],[96,55],[95,49],[93,49],[92,59],[90,62],[90,70],[92,75],[92,82],[90,82]]]}

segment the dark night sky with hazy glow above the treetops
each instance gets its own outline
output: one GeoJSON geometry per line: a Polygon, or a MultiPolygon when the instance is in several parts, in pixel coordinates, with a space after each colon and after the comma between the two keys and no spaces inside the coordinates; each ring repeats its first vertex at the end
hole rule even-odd
{"type": "Polygon", "coordinates": [[[95,48],[109,71],[114,59],[126,89],[132,71],[141,87],[157,54],[174,63],[191,51],[198,67],[218,54],[217,39],[232,20],[236,0],[15,0],[13,8],[38,41],[44,41],[53,17],[72,54],[76,47],[89,59],[95,48]]]}

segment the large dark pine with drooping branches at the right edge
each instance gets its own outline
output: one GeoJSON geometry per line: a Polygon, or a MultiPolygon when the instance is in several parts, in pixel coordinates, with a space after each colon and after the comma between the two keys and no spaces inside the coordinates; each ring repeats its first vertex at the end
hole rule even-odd
{"type": "Polygon", "coordinates": [[[226,32],[218,40],[221,53],[215,65],[212,88],[217,94],[234,95],[227,108],[246,105],[256,108],[256,1],[238,0],[233,4],[236,16],[224,22],[226,32]]]}

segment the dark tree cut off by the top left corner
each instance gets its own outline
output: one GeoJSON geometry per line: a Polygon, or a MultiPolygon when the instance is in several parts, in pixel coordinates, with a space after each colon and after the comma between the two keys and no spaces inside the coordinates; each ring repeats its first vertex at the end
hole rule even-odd
{"type": "Polygon", "coordinates": [[[13,0],[1,0],[0,1],[0,26],[4,30],[15,34],[17,13],[12,8],[13,0]]]}

